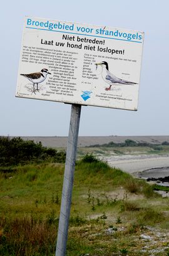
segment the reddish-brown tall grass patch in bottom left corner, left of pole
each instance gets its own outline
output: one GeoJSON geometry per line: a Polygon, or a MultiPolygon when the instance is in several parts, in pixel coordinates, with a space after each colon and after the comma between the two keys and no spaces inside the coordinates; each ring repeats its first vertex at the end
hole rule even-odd
{"type": "Polygon", "coordinates": [[[50,218],[1,218],[0,255],[53,255],[57,225],[50,218]]]}

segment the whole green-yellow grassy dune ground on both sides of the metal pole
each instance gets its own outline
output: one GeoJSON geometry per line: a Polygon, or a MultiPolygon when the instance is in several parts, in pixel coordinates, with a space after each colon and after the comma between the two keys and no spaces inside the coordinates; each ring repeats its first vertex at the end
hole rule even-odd
{"type": "MultiPolygon", "coordinates": [[[[1,170],[0,255],[54,255],[63,173],[64,164],[45,163],[1,170]]],[[[75,168],[67,255],[151,255],[140,234],[169,227],[168,212],[168,198],[145,181],[85,156],[75,168]]]]}

